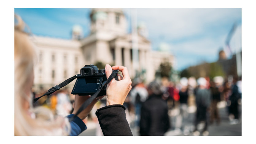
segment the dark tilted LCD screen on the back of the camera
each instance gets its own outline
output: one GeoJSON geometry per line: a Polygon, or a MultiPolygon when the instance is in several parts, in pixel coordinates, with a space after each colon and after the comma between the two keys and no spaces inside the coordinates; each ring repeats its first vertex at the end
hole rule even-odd
{"type": "Polygon", "coordinates": [[[102,77],[94,78],[78,78],[72,90],[72,94],[87,94],[91,95],[100,89],[102,77]]]}

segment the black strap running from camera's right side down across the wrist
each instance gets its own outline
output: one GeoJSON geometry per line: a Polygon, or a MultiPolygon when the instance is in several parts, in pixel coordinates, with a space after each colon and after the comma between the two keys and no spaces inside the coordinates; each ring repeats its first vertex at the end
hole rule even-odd
{"type": "Polygon", "coordinates": [[[96,92],[95,94],[93,94],[91,97],[89,97],[82,105],[81,107],[78,109],[78,111],[76,112],[75,115],[72,116],[72,118],[69,119],[69,122],[71,122],[80,112],[82,112],[85,108],[87,108],[87,106],[89,104],[91,104],[91,102],[98,96],[98,94],[100,93],[100,91],[103,89],[103,87],[107,87],[107,84],[110,83],[110,81],[112,81],[113,78],[118,80],[118,71],[114,72],[109,76],[109,78],[107,79],[107,81],[103,82],[101,85],[101,88],[98,92],[96,92]]]}

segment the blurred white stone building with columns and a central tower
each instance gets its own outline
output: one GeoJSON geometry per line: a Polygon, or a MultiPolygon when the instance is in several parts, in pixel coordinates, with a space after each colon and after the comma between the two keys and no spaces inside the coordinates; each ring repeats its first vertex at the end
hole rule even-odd
{"type": "MultiPolygon", "coordinates": [[[[136,70],[146,71],[146,82],[155,78],[161,62],[174,64],[174,56],[167,52],[152,51],[150,41],[138,29],[138,61],[133,58],[133,35],[126,33],[126,18],[122,9],[92,9],[91,33],[83,38],[79,26],[74,26],[72,40],[34,36],[39,61],[35,67],[35,88],[49,89],[67,78],[80,73],[85,64],[122,65],[134,78],[136,70]],[[137,68],[134,65],[137,64],[137,68]]],[[[75,80],[68,85],[72,90],[75,80]]]]}

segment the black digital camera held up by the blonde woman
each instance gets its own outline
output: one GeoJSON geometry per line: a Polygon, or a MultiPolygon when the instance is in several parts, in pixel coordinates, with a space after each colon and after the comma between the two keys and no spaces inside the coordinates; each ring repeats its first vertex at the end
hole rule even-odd
{"type": "MultiPolygon", "coordinates": [[[[118,70],[113,70],[113,72],[118,72],[118,70]]],[[[97,66],[85,65],[80,70],[80,74],[76,75],[77,80],[73,87],[72,94],[78,95],[93,95],[98,92],[104,81],[107,81],[105,74],[105,69],[99,70],[97,66]]],[[[118,80],[118,78],[115,78],[118,80]]],[[[107,86],[107,85],[106,85],[107,86]]],[[[104,86],[98,96],[106,95],[106,87],[104,86]]]]}

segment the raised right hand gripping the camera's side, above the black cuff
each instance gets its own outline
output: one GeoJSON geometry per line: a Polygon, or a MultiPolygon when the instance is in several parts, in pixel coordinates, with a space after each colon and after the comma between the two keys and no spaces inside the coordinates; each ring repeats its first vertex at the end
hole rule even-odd
{"type": "Polygon", "coordinates": [[[113,70],[119,70],[122,72],[123,76],[118,75],[118,80],[116,81],[113,79],[108,85],[107,85],[107,91],[106,91],[106,105],[113,105],[113,104],[123,104],[128,93],[130,92],[132,86],[132,81],[130,79],[130,76],[128,74],[128,69],[124,66],[110,66],[109,64],[106,64],[105,66],[105,72],[107,78],[112,74],[113,70]]]}

